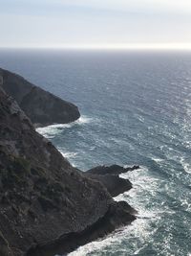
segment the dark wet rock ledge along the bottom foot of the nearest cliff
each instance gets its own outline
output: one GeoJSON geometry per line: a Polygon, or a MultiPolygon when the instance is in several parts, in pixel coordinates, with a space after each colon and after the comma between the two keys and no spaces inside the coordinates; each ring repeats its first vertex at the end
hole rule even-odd
{"type": "Polygon", "coordinates": [[[66,255],[82,244],[90,243],[115,231],[121,225],[121,221],[125,224],[130,224],[136,220],[133,215],[136,213],[125,201],[114,202],[110,205],[104,217],[100,218],[92,226],[87,227],[81,232],[72,232],[60,236],[51,243],[32,246],[26,253],[26,256],[53,256],[55,254],[63,254],[63,251],[66,255]]]}

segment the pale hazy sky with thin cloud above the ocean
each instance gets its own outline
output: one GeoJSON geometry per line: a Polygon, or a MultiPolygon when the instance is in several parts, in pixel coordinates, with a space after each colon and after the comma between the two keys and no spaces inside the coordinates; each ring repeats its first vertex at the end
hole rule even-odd
{"type": "Polygon", "coordinates": [[[191,0],[0,0],[0,47],[191,49],[191,0]]]}

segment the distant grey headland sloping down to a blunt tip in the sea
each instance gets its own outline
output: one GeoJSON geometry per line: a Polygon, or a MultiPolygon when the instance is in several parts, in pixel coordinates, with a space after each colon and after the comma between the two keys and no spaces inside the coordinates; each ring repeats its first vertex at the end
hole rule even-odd
{"type": "Polygon", "coordinates": [[[0,69],[0,84],[16,100],[36,126],[74,122],[80,114],[77,106],[63,101],[22,77],[0,69]]]}

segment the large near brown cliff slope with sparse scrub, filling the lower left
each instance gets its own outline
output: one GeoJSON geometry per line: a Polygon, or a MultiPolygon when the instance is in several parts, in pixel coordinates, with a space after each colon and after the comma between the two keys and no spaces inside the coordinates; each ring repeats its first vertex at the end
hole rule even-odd
{"type": "MultiPolygon", "coordinates": [[[[5,74],[4,87],[11,84],[5,74]]],[[[29,94],[22,93],[19,103],[29,94]]],[[[134,221],[133,214],[74,169],[0,86],[1,256],[67,253],[134,221]]]]}

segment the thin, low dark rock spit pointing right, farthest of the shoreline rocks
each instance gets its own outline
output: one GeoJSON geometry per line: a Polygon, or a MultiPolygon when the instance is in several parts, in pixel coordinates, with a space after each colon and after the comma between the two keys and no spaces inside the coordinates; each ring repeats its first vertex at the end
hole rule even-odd
{"type": "Polygon", "coordinates": [[[139,166],[134,165],[132,167],[122,167],[119,165],[111,165],[111,166],[97,166],[93,169],[88,170],[89,174],[93,175],[120,175],[125,174],[127,172],[132,172],[134,170],[138,170],[139,166]]]}

